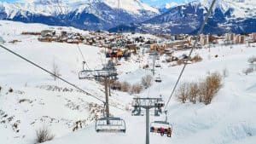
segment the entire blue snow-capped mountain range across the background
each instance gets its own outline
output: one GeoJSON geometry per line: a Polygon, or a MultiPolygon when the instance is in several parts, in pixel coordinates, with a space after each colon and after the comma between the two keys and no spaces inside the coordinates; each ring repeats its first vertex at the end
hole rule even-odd
{"type": "MultiPolygon", "coordinates": [[[[0,20],[74,26],[110,32],[198,32],[212,0],[177,4],[160,1],[158,9],[140,0],[29,0],[0,3],[0,20]],[[89,3],[90,2],[90,3],[89,3]],[[161,8],[161,9],[160,9],[161,8]],[[119,13],[119,16],[118,16],[119,13]]],[[[154,3],[151,3],[154,5],[154,3]]],[[[256,32],[255,0],[217,0],[204,33],[256,32]]]]}

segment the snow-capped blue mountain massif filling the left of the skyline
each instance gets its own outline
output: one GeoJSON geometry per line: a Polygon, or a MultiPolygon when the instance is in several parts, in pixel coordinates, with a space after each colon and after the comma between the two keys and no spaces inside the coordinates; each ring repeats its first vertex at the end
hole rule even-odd
{"type": "Polygon", "coordinates": [[[116,0],[2,2],[0,3],[0,20],[37,22],[52,26],[74,26],[89,30],[108,30],[121,24],[143,22],[160,14],[158,9],[139,0],[120,0],[119,8],[118,10],[118,1],[116,0]]]}

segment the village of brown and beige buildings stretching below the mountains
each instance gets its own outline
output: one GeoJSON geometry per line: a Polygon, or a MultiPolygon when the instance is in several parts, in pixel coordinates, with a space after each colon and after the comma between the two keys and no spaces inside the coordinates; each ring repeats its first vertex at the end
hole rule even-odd
{"type": "MultiPolygon", "coordinates": [[[[61,30],[61,28],[59,28],[61,30]]],[[[143,37],[136,33],[110,33],[110,32],[66,32],[44,30],[42,32],[22,32],[22,35],[38,35],[40,42],[57,43],[84,43],[105,49],[107,57],[129,57],[131,53],[137,53],[137,49],[148,48],[148,52],[156,50],[160,54],[172,54],[173,50],[191,49],[195,42],[195,36],[189,34],[154,34],[154,37],[143,37]],[[133,36],[134,35],[134,36],[133,36]]],[[[10,43],[19,42],[13,40],[10,43]]],[[[195,48],[201,49],[206,45],[214,44],[245,44],[256,43],[256,32],[251,34],[226,33],[224,35],[201,34],[195,48]]]]}

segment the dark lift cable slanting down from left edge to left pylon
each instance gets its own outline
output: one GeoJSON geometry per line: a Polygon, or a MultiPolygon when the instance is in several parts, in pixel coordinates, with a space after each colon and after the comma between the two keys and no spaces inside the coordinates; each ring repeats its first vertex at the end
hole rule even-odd
{"type": "MultiPolygon", "coordinates": [[[[38,67],[39,69],[43,70],[44,72],[47,72],[47,73],[49,73],[50,75],[54,75],[56,78],[59,78],[62,82],[66,83],[66,84],[69,84],[69,85],[73,86],[73,88],[79,89],[80,91],[84,92],[84,94],[89,95],[89,96],[95,98],[95,99],[98,100],[98,101],[102,101],[102,99],[96,97],[95,95],[92,95],[92,94],[90,94],[89,92],[85,91],[84,89],[79,88],[79,87],[76,86],[75,84],[72,84],[72,83],[68,82],[68,81],[67,81],[66,79],[64,79],[64,78],[61,78],[61,77],[55,75],[53,72],[49,72],[49,70],[45,69],[44,67],[39,66],[38,64],[32,62],[32,60],[28,60],[28,59],[26,59],[24,56],[21,56],[21,55],[15,53],[13,50],[6,48],[6,47],[3,46],[2,44],[0,44],[0,47],[3,48],[3,49],[5,49],[5,50],[7,50],[7,51],[9,51],[9,53],[11,53],[11,54],[13,54],[13,55],[16,55],[17,57],[20,57],[20,59],[26,60],[26,62],[32,64],[33,66],[38,67]]],[[[102,103],[103,103],[104,105],[106,104],[105,101],[102,101],[102,103]]],[[[122,111],[124,110],[124,109],[122,109],[122,108],[116,107],[116,106],[111,105],[111,104],[108,104],[108,105],[111,106],[111,107],[117,108],[117,109],[119,109],[119,110],[122,110],[122,111]]]]}

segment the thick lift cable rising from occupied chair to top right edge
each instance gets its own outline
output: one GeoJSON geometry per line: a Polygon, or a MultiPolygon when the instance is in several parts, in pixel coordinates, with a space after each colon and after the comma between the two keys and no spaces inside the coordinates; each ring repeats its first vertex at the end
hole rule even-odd
{"type": "MultiPolygon", "coordinates": [[[[206,25],[206,23],[207,23],[207,20],[208,20],[210,14],[211,14],[211,12],[212,12],[212,8],[213,8],[215,2],[216,2],[216,0],[212,0],[212,4],[211,4],[211,6],[210,6],[209,11],[207,11],[206,18],[205,18],[205,20],[203,21],[203,23],[201,24],[200,31],[197,33],[197,36],[196,36],[196,39],[195,39],[195,43],[194,43],[192,49],[191,49],[190,52],[189,52],[189,57],[192,55],[192,52],[193,52],[193,50],[195,49],[196,43],[198,43],[198,39],[199,39],[199,37],[200,37],[200,34],[201,34],[201,32],[203,31],[203,29],[204,29],[204,27],[205,27],[205,25],[206,25]]],[[[182,68],[182,71],[180,72],[180,74],[179,74],[179,76],[178,76],[178,78],[177,78],[177,82],[176,82],[176,84],[174,85],[174,87],[173,87],[173,89],[172,89],[172,93],[171,93],[170,97],[168,98],[168,101],[166,102],[166,106],[165,106],[165,108],[164,108],[165,111],[166,111],[166,109],[167,109],[167,107],[168,107],[169,102],[171,101],[171,98],[172,98],[172,95],[174,94],[175,89],[177,88],[178,82],[180,81],[180,79],[181,79],[182,76],[183,76],[183,72],[184,72],[186,66],[187,66],[187,63],[184,64],[184,66],[183,66],[183,68],[182,68]]]]}

